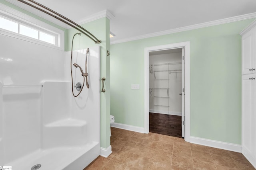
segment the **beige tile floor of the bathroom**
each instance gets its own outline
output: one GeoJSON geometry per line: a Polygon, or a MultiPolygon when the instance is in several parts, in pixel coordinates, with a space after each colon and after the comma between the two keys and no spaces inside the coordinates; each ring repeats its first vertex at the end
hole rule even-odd
{"type": "Polygon", "coordinates": [[[111,127],[112,154],[84,170],[255,170],[238,152],[185,142],[156,133],[111,127]]]}

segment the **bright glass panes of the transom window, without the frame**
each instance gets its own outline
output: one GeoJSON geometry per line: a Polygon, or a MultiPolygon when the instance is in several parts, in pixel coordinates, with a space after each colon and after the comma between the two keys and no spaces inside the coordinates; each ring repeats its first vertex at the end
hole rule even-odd
{"type": "Polygon", "coordinates": [[[7,19],[2,16],[0,16],[0,29],[5,29],[7,31],[18,33],[33,39],[38,39],[39,41],[44,41],[53,45],[56,45],[56,42],[58,42],[56,41],[58,37],[56,33],[51,33],[50,31],[46,30],[42,31],[33,25],[26,25],[21,22],[12,21],[11,19],[7,19]]]}

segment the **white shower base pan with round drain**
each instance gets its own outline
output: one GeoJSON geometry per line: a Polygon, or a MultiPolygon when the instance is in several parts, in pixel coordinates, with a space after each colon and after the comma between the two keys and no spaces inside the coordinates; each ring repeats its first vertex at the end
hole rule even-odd
{"type": "Polygon", "coordinates": [[[31,170],[41,164],[38,170],[82,170],[100,154],[100,144],[91,143],[81,147],[63,147],[37,150],[18,160],[9,162],[13,170],[31,170]]]}

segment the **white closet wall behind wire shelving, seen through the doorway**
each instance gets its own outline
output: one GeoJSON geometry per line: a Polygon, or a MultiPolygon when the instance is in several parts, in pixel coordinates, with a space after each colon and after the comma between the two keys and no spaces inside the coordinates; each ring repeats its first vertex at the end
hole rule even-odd
{"type": "MultiPolygon", "coordinates": [[[[164,64],[164,63],[179,63],[181,62],[182,53],[168,53],[160,55],[150,55],[149,64],[164,64]]],[[[154,100],[154,113],[164,113],[170,115],[181,115],[182,112],[182,97],[179,95],[182,92],[182,73],[169,72],[162,70],[180,70],[182,64],[175,65],[154,65],[155,79],[169,79],[168,80],[154,80],[154,72],[149,72],[149,87],[150,88],[169,88],[169,96],[166,89],[154,89],[149,93],[149,108],[153,111],[154,100]],[[161,70],[161,71],[160,71],[161,70]],[[160,72],[158,72],[160,71],[160,72]],[[169,83],[169,84],[168,84],[169,83]],[[164,96],[168,98],[157,98],[153,96],[164,96]],[[169,102],[169,109],[168,107],[169,102]],[[155,106],[164,105],[164,106],[155,106]]]]}

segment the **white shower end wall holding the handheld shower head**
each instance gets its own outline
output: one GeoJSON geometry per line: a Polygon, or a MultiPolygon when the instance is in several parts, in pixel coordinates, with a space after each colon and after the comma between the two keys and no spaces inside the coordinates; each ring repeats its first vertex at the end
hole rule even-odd
{"type": "MultiPolygon", "coordinates": [[[[68,55],[70,52],[68,52],[68,55]]],[[[72,63],[79,64],[85,72],[86,49],[73,51],[72,63]]],[[[72,117],[74,119],[85,120],[87,124],[87,142],[99,141],[100,139],[100,46],[90,47],[87,59],[87,73],[89,88],[84,84],[81,94],[73,98],[72,117]]],[[[74,84],[83,83],[83,78],[79,68],[72,66],[74,74],[74,84]]],[[[71,90],[71,89],[70,89],[71,90]]],[[[74,89],[74,94],[78,91],[74,89]]]]}

